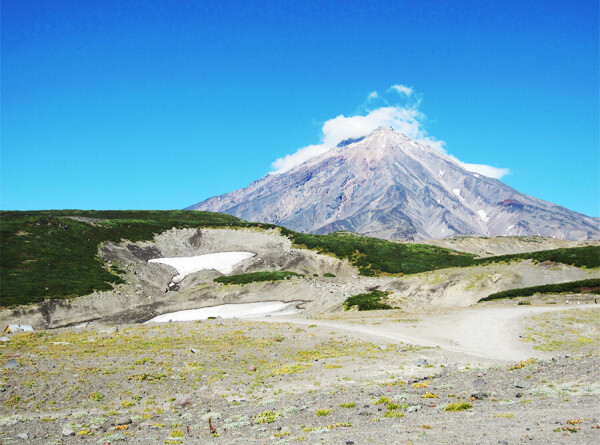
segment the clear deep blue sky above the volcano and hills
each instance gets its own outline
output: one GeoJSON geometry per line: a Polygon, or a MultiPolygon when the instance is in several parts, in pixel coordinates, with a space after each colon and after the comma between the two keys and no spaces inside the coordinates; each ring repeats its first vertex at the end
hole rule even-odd
{"type": "Polygon", "coordinates": [[[595,0],[3,0],[0,207],[183,208],[392,107],[599,216],[598,41],[595,0]]]}

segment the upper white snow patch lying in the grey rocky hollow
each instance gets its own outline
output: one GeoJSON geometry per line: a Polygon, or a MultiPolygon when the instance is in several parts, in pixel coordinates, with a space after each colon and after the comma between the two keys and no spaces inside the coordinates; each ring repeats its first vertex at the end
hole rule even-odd
{"type": "Polygon", "coordinates": [[[191,257],[154,258],[148,262],[167,264],[177,269],[179,275],[173,278],[173,282],[179,283],[187,275],[206,269],[214,269],[222,274],[230,273],[236,264],[254,255],[256,254],[252,252],[219,252],[191,257]]]}

